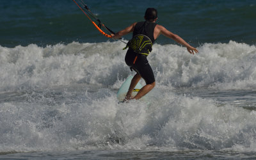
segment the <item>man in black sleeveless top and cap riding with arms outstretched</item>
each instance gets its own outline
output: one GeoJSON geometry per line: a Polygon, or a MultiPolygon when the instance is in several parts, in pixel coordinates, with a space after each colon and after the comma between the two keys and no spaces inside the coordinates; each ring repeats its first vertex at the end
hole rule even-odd
{"type": "Polygon", "coordinates": [[[156,85],[154,73],[148,64],[147,55],[152,51],[152,45],[159,35],[167,36],[179,44],[184,45],[187,47],[190,54],[198,52],[196,48],[191,47],[187,42],[180,38],[180,36],[175,35],[163,26],[156,24],[157,10],[155,8],[147,8],[144,18],[145,21],[134,22],[131,26],[122,31],[118,31],[115,35],[112,35],[113,38],[118,39],[133,32],[132,40],[127,44],[129,49],[125,55],[125,63],[131,67],[131,69],[135,70],[137,74],[132,78],[124,102],[130,99],[140,99],[150,92],[150,90],[152,90],[156,85]],[[132,91],[140,81],[141,77],[145,80],[146,85],[141,88],[136,96],[131,97],[132,91]]]}

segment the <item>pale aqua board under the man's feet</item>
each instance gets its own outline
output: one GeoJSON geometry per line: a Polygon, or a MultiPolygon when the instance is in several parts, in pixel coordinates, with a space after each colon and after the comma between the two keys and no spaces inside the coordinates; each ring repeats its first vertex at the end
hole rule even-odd
{"type": "MultiPolygon", "coordinates": [[[[124,83],[122,84],[122,86],[120,86],[118,92],[116,93],[116,97],[117,99],[122,102],[129,90],[130,84],[132,81],[132,76],[127,77],[127,79],[125,79],[124,83]]],[[[134,97],[142,88],[143,86],[141,85],[140,82],[138,82],[138,84],[135,86],[133,92],[132,92],[132,97],[134,97]]]]}

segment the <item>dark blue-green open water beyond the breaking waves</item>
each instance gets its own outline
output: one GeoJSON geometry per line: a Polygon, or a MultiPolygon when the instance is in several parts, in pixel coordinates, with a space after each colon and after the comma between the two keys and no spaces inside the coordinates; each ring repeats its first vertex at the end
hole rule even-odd
{"type": "MultiPolygon", "coordinates": [[[[157,23],[193,45],[244,42],[255,44],[256,2],[247,1],[87,1],[113,31],[143,20],[147,7],[157,8],[157,23]]],[[[7,1],[0,3],[0,45],[52,45],[106,42],[73,1],[7,1]]],[[[130,36],[125,36],[129,39],[130,36]]],[[[174,43],[159,38],[158,44],[174,43]]]]}

